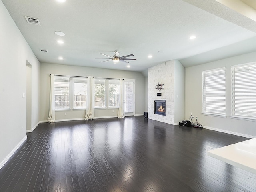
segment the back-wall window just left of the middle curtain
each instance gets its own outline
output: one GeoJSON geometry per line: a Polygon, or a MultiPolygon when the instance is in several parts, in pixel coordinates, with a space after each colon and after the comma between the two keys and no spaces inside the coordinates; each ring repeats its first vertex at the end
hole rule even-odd
{"type": "Polygon", "coordinates": [[[74,78],[73,108],[86,108],[87,78],[74,78]]]}

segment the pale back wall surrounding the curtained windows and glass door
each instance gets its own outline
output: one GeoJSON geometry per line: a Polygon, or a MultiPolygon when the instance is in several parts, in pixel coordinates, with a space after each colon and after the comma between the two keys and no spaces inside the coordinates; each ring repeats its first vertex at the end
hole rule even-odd
{"type": "MultiPolygon", "coordinates": [[[[48,119],[50,98],[50,74],[68,76],[94,76],[101,78],[127,78],[136,80],[136,106],[135,115],[143,115],[145,109],[145,77],[141,72],[110,70],[80,66],[40,63],[40,120],[48,119]]],[[[117,116],[118,109],[95,109],[94,118],[117,116]]],[[[56,120],[82,119],[85,110],[56,111],[56,120]],[[66,113],[66,116],[64,115],[66,113]]]]}

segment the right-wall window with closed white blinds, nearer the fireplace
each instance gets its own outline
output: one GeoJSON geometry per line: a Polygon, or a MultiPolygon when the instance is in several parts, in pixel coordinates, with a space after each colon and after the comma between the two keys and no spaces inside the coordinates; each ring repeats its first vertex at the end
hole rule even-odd
{"type": "Polygon", "coordinates": [[[226,114],[226,68],[202,72],[203,112],[207,114],[226,114]]]}

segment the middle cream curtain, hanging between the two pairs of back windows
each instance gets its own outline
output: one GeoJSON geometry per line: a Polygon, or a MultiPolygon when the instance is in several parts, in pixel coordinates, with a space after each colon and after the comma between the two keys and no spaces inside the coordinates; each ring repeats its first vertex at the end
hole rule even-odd
{"type": "Polygon", "coordinates": [[[89,76],[87,80],[87,100],[85,120],[94,118],[94,77],[89,76]]]}

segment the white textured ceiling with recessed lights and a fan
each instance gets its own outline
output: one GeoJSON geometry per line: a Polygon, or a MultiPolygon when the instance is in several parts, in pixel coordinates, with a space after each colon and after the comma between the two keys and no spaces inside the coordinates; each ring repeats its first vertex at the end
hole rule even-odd
{"type": "Polygon", "coordinates": [[[144,71],[173,59],[189,67],[256,51],[256,22],[215,0],[2,2],[42,63],[144,71]],[[38,18],[41,25],[28,24],[24,16],[38,18]],[[191,35],[197,38],[190,40],[191,35]],[[137,60],[126,68],[124,62],[95,59],[100,53],[112,56],[114,50],[137,60]]]}

